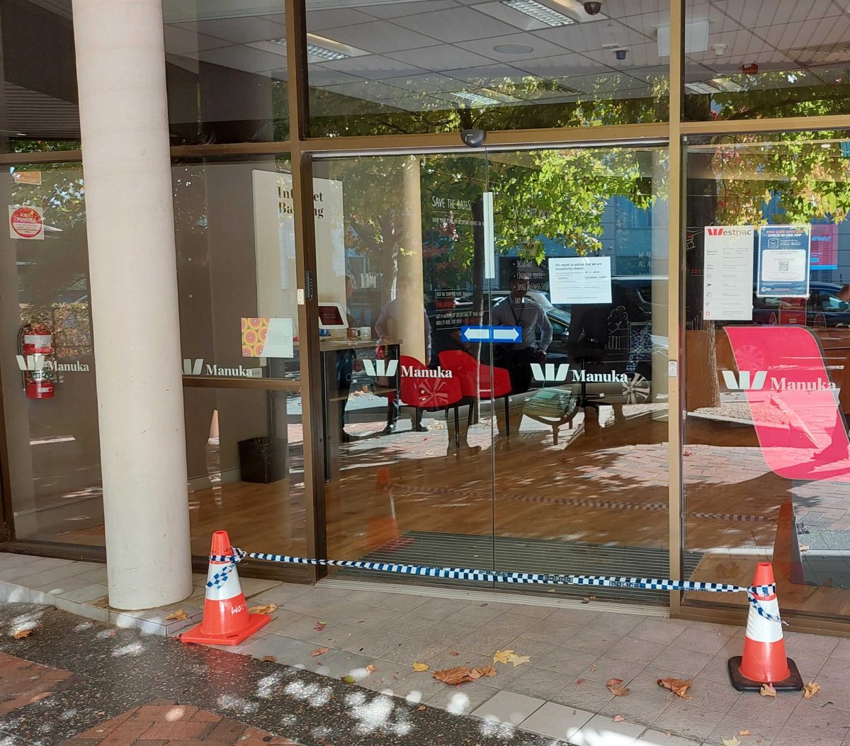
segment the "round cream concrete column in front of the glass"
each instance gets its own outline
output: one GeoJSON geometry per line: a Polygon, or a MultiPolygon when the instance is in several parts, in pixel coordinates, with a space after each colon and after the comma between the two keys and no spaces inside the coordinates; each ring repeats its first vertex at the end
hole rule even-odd
{"type": "Polygon", "coordinates": [[[110,604],[192,591],[161,0],[73,3],[110,604]]]}

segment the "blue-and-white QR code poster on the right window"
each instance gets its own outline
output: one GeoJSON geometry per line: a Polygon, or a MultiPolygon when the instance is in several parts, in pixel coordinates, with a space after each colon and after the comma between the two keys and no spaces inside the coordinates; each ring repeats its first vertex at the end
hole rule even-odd
{"type": "Polygon", "coordinates": [[[808,297],[811,225],[766,225],[758,231],[760,298],[808,297]]]}

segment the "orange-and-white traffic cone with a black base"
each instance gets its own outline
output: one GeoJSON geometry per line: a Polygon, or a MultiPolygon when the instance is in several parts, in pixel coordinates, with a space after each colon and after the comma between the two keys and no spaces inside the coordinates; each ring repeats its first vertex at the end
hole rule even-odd
{"type": "MultiPolygon", "coordinates": [[[[774,568],[770,562],[759,562],[752,585],[774,585],[774,568]]],[[[744,655],[729,658],[729,678],[739,692],[758,691],[762,684],[772,684],[780,692],[799,692],[802,677],[796,664],[785,656],[785,641],[782,639],[782,623],[779,621],[779,601],[776,593],[760,596],[756,600],[762,611],[770,614],[768,619],[750,605],[746,621],[744,655]]]]}

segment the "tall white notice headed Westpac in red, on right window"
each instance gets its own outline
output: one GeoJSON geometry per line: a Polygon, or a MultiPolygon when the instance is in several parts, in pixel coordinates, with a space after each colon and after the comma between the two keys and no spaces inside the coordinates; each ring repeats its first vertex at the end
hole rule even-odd
{"type": "Polygon", "coordinates": [[[704,319],[752,320],[752,254],[756,229],[751,225],[706,226],[702,278],[704,319]]]}

